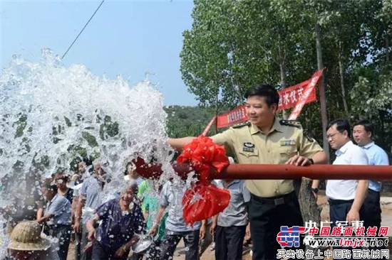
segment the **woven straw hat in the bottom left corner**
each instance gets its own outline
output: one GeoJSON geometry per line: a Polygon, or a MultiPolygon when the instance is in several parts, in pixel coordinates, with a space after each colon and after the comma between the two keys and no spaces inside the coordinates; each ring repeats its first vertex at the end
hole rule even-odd
{"type": "Polygon", "coordinates": [[[12,230],[9,249],[19,251],[46,250],[51,242],[41,237],[41,227],[36,221],[19,222],[12,230]]]}

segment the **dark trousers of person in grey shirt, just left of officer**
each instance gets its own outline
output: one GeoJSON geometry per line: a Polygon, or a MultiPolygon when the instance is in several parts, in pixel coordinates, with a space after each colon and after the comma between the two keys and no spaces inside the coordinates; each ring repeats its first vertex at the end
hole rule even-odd
{"type": "Polygon", "coordinates": [[[215,231],[215,259],[241,260],[247,226],[221,227],[215,231]]]}

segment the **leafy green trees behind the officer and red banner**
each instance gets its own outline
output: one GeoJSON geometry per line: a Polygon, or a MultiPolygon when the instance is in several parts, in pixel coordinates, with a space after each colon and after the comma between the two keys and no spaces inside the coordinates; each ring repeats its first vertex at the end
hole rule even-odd
{"type": "MultiPolygon", "coordinates": [[[[201,105],[221,111],[241,104],[254,84],[295,85],[317,70],[317,23],[329,121],[371,119],[390,152],[391,14],[392,0],[195,0],[182,78],[201,105]]],[[[319,103],[307,104],[299,121],[321,141],[319,103]]]]}

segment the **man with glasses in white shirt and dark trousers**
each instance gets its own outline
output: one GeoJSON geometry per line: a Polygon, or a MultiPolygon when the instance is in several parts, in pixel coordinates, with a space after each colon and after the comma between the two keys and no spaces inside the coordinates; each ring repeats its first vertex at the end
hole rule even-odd
{"type": "MultiPolygon", "coordinates": [[[[331,148],[336,150],[333,164],[368,164],[365,151],[351,141],[349,121],[344,119],[332,121],[326,129],[326,138],[331,148]]],[[[368,180],[327,181],[326,196],[329,201],[331,229],[337,226],[337,222],[347,221],[350,225],[360,220],[359,210],[365,200],[368,183],[368,180]]]]}

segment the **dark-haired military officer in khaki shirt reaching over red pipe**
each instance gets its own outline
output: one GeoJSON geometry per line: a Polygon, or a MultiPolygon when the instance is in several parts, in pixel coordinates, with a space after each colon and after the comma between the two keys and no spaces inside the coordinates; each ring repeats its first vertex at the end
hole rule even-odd
{"type": "MultiPolygon", "coordinates": [[[[304,134],[296,121],[279,120],[276,112],[279,94],[270,85],[256,85],[246,96],[249,121],[234,126],[212,140],[225,145],[239,163],[308,166],[326,163],[326,153],[304,134]]],[[[194,137],[168,139],[168,143],[181,149],[194,137]]],[[[251,193],[249,222],[253,242],[253,259],[277,259],[277,234],[281,226],[302,226],[299,202],[293,180],[246,180],[251,193]]],[[[303,244],[301,244],[303,246],[303,244]]]]}

